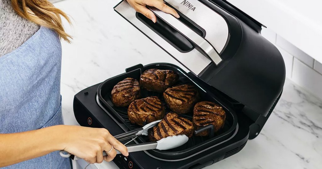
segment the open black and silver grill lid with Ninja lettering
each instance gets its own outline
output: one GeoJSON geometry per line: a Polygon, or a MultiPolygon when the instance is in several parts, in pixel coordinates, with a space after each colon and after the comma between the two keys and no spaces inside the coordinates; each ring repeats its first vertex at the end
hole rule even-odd
{"type": "Polygon", "coordinates": [[[166,0],[180,18],[150,7],[156,23],[125,0],[114,9],[195,76],[266,116],[283,88],[283,58],[256,23],[246,24],[242,15],[232,15],[236,9],[213,2],[166,0]]]}

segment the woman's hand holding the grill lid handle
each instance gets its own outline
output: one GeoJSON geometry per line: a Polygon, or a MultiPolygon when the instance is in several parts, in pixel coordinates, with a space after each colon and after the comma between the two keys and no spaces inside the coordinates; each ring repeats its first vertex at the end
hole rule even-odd
{"type": "Polygon", "coordinates": [[[171,7],[163,3],[163,0],[127,0],[128,3],[139,13],[144,14],[147,18],[151,19],[156,23],[156,15],[148,9],[146,6],[154,6],[159,10],[172,14],[173,16],[179,18],[179,14],[171,7]]]}

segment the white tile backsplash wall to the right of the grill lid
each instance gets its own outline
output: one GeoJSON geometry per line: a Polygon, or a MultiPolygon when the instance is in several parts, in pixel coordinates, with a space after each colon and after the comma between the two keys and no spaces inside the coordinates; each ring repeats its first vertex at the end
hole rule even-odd
{"type": "Polygon", "coordinates": [[[261,34],[272,42],[283,56],[286,77],[322,99],[322,63],[268,28],[262,28],[261,34]]]}

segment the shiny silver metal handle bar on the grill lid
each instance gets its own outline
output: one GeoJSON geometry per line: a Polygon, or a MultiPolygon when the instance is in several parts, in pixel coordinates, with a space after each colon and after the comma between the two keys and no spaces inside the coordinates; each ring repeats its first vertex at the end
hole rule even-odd
{"type": "Polygon", "coordinates": [[[206,57],[209,58],[215,65],[218,65],[223,60],[219,55],[219,53],[217,52],[217,50],[207,40],[205,40],[203,37],[195,33],[193,30],[191,30],[184,23],[176,19],[174,16],[172,16],[171,14],[162,12],[155,7],[151,7],[151,6],[147,6],[147,7],[159,18],[161,18],[166,23],[171,25],[179,33],[184,35],[196,46],[198,46],[203,51],[201,53],[206,55],[206,57]]]}

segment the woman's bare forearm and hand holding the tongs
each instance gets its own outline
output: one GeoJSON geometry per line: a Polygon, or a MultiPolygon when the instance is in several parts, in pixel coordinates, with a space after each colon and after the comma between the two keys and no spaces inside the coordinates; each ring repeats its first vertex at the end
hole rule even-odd
{"type": "Polygon", "coordinates": [[[58,125],[33,131],[0,134],[0,167],[46,155],[53,151],[65,150],[87,162],[111,161],[116,151],[128,156],[127,148],[103,128],[58,125]]]}

